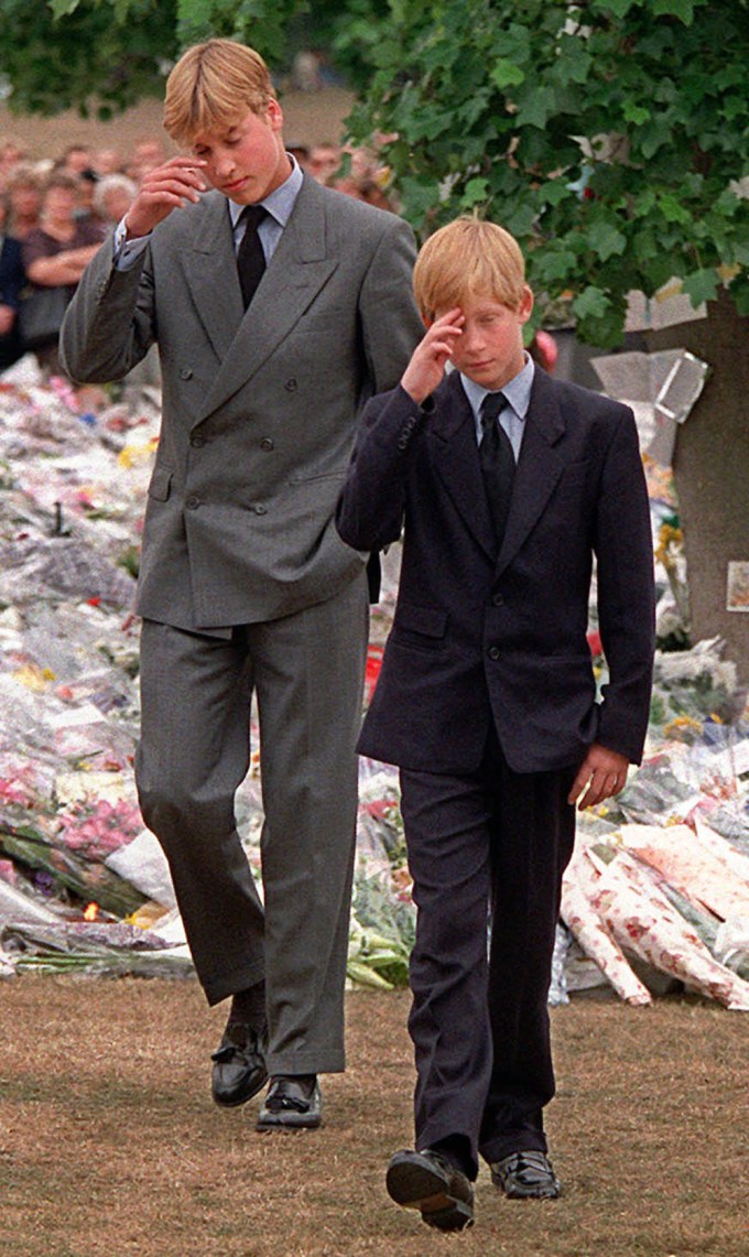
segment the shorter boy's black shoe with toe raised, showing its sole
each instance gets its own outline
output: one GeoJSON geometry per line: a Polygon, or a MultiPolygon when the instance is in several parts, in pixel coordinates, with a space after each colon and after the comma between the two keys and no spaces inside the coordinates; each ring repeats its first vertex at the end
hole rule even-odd
{"type": "Polygon", "coordinates": [[[406,1209],[418,1209],[437,1231],[465,1231],[474,1223],[474,1188],[439,1153],[393,1153],[385,1179],[388,1194],[406,1209]]]}

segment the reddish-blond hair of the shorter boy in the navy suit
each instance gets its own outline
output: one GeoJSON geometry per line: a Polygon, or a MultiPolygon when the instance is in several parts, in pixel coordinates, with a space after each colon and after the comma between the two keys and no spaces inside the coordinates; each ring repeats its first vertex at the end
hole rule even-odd
{"type": "Polygon", "coordinates": [[[422,317],[430,321],[470,297],[488,297],[515,310],[527,292],[520,246],[496,222],[455,219],[422,245],[413,292],[422,317]]]}

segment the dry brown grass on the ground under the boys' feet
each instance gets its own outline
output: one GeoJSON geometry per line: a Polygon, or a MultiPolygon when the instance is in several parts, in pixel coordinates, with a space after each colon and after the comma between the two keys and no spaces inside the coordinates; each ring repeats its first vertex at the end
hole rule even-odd
{"type": "Polygon", "coordinates": [[[481,1172],[476,1226],[391,1204],[411,1135],[405,993],[348,997],[349,1067],[322,1131],[259,1135],[224,1112],[209,1055],[224,1009],[194,982],[24,977],[0,987],[0,1252],[8,1257],[687,1257],[748,1252],[740,1013],[669,997],[553,1009],[558,1202],[506,1202],[481,1172]]]}

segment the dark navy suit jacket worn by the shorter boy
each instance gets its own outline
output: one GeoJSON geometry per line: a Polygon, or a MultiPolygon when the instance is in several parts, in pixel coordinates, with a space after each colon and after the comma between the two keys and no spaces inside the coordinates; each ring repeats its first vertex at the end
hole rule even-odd
{"type": "Polygon", "coordinates": [[[494,553],[457,372],[420,407],[373,397],[337,510],[343,541],[403,530],[400,591],[359,752],[470,772],[493,720],[510,768],[574,766],[597,740],[638,763],[653,655],[650,509],[632,411],[537,368],[504,543],[494,553]],[[610,669],[587,644],[596,561],[610,669]]]}

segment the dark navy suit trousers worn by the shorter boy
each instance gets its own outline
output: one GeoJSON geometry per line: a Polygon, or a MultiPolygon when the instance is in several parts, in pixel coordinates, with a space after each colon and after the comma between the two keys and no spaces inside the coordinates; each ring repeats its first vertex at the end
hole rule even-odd
{"type": "Polygon", "coordinates": [[[401,769],[417,905],[416,1146],[462,1136],[476,1170],[479,1155],[547,1150],[547,999],[574,773],[513,773],[494,730],[473,773],[401,769]]]}

